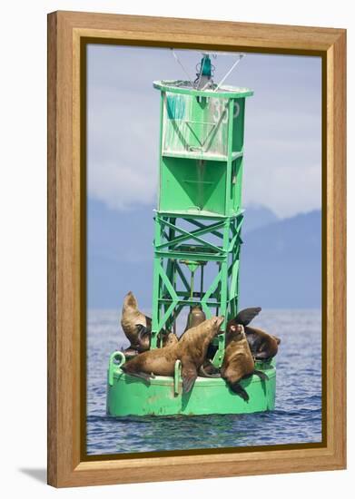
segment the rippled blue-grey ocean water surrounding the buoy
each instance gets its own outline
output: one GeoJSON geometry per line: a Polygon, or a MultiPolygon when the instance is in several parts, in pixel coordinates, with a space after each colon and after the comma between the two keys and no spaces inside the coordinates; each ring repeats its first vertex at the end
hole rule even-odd
{"type": "Polygon", "coordinates": [[[321,313],[262,310],[252,325],[281,338],[274,411],[250,415],[106,416],[106,370],[127,347],[116,310],[89,310],[87,454],[316,443],[321,441],[321,313]]]}

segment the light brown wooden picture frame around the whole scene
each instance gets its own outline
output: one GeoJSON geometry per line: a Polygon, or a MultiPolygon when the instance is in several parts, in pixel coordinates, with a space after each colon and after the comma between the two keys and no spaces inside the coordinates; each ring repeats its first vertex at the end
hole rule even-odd
{"type": "MultiPolygon", "coordinates": [[[[48,483],[57,487],[261,475],[346,466],[346,31],[133,15],[48,15],[48,483]],[[81,84],[87,43],[213,48],[322,59],[323,442],[85,459],[81,84]]],[[[91,456],[93,457],[93,456],[91,456]]]]}

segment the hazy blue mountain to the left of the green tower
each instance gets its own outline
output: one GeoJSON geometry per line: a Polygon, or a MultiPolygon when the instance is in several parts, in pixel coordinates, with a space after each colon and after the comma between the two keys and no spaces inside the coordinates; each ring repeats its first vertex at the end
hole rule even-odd
{"type": "Polygon", "coordinates": [[[132,289],[151,307],[153,207],[116,211],[90,200],[87,207],[87,304],[121,308],[132,289]]]}

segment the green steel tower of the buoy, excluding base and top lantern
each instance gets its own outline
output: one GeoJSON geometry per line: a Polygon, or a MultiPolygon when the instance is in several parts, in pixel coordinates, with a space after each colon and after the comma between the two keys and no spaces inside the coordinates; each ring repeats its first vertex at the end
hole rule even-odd
{"type": "Polygon", "coordinates": [[[186,82],[154,82],[161,91],[159,201],[154,216],[153,339],[174,328],[184,307],[224,315],[238,310],[242,245],[242,162],[249,89],[198,90],[186,82]],[[193,265],[197,267],[192,268],[193,265]],[[212,282],[195,283],[207,266],[212,282]]]}

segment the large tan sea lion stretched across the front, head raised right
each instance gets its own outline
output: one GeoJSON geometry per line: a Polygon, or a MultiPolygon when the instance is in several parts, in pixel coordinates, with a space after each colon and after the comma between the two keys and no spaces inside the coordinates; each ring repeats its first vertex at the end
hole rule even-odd
{"type": "Polygon", "coordinates": [[[223,320],[223,317],[207,319],[188,329],[178,343],[143,352],[123,364],[123,372],[146,380],[154,375],[173,376],[175,362],[179,359],[182,363],[182,391],[190,392],[206,357],[207,347],[223,320]]]}

